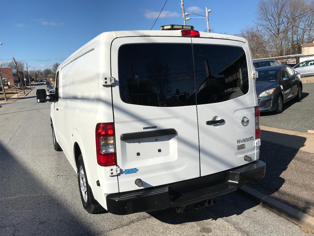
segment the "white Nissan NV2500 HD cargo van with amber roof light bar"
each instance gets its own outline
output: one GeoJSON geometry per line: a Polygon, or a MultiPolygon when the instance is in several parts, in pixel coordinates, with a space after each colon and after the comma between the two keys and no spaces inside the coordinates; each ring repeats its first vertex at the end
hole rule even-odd
{"type": "Polygon", "coordinates": [[[54,148],[89,213],[183,212],[264,177],[247,41],[161,28],[102,33],[58,67],[54,148]]]}

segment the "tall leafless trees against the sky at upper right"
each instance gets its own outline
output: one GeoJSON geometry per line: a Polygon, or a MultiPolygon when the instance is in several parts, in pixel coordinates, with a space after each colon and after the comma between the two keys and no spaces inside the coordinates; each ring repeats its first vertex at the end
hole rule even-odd
{"type": "Polygon", "coordinates": [[[314,36],[314,1],[260,0],[257,27],[273,56],[301,53],[314,36]]]}

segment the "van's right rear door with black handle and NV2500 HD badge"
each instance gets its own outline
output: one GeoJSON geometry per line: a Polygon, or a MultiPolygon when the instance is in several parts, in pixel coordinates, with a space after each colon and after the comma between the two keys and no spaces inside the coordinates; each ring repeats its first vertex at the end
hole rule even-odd
{"type": "Polygon", "coordinates": [[[255,100],[244,42],[192,38],[192,45],[204,176],[247,164],[245,155],[255,160],[255,100]]]}

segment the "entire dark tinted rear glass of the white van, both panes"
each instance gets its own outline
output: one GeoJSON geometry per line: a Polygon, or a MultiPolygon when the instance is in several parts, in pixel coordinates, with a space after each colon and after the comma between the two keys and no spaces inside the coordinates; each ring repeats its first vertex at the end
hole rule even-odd
{"type": "Polygon", "coordinates": [[[207,44],[127,44],[118,54],[123,102],[189,106],[230,100],[248,92],[242,48],[207,44]]]}

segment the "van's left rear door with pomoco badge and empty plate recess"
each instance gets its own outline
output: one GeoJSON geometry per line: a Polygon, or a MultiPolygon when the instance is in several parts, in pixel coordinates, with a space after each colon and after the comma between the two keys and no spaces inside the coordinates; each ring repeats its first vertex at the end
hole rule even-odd
{"type": "Polygon", "coordinates": [[[119,191],[200,176],[191,38],[124,37],[111,46],[119,191]]]}

